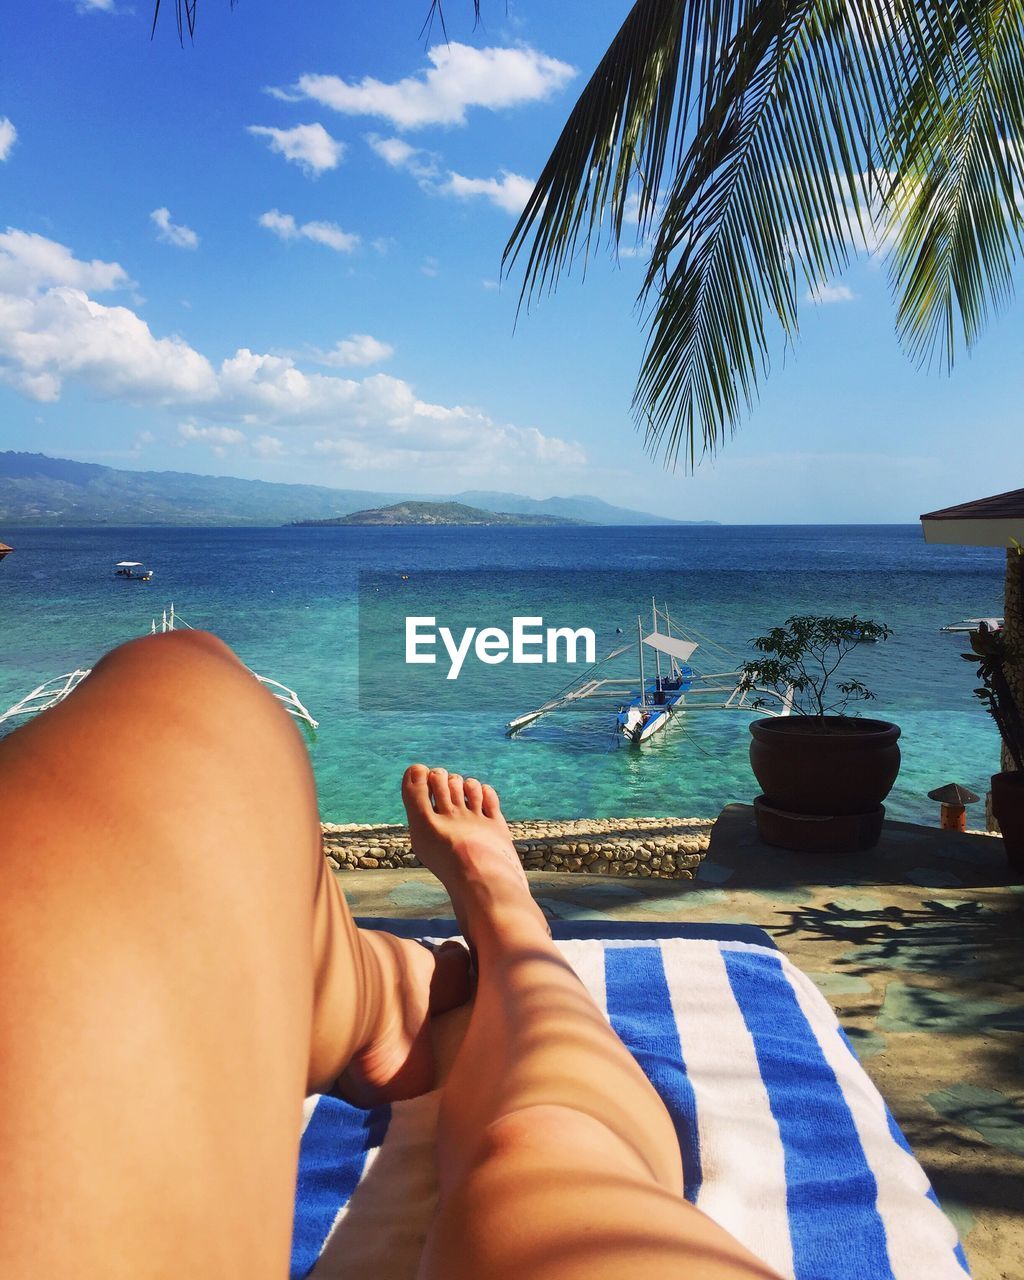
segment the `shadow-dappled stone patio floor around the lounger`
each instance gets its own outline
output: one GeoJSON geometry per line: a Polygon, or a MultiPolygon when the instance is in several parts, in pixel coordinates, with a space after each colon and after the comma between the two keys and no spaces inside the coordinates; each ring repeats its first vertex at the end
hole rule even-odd
{"type": "MultiPolygon", "coordinates": [[[[451,914],[425,870],[339,881],[356,915],[451,914]]],[[[695,881],[530,873],[554,919],[767,929],[838,1014],[975,1280],[1024,1276],[1024,886],[1012,881],[989,836],[887,822],[868,854],[791,854],[758,840],[746,805],[723,810],[695,881]]]]}

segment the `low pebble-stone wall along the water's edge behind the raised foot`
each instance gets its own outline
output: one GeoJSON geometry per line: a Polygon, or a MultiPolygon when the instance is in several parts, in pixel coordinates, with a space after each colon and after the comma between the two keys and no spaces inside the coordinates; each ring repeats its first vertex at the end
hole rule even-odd
{"type": "MultiPolygon", "coordinates": [[[[712,818],[580,818],[511,822],[526,870],[692,879],[712,818]]],[[[337,870],[419,867],[406,827],[325,822],[324,852],[337,870]]]]}

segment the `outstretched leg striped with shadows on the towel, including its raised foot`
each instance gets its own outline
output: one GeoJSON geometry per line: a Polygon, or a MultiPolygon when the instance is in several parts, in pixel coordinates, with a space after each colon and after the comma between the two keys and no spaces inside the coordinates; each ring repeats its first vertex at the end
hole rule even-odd
{"type": "Polygon", "coordinates": [[[668,1114],[550,941],[494,790],[412,765],[403,797],[479,966],[422,1280],[772,1277],[682,1198],[668,1114]]]}

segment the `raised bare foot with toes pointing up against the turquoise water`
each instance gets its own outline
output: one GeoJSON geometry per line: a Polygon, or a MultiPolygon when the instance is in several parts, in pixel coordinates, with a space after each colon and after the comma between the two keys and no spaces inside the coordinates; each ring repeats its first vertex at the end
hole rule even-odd
{"type": "Polygon", "coordinates": [[[467,940],[480,911],[494,916],[526,909],[548,932],[494,787],[412,764],[402,780],[402,801],[413,852],[448,890],[467,940]]]}

